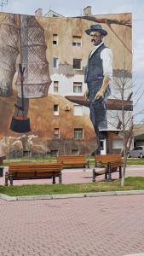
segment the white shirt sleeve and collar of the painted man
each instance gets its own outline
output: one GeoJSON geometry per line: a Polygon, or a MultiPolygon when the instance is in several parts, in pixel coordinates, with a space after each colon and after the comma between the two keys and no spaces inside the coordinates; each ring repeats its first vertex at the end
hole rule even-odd
{"type": "MultiPolygon", "coordinates": [[[[89,58],[95,53],[95,50],[98,49],[101,44],[98,44],[95,46],[95,48],[90,52],[89,58]]],[[[102,66],[103,66],[103,74],[104,76],[109,77],[109,79],[112,79],[112,61],[113,61],[113,55],[112,55],[112,49],[105,48],[101,50],[101,60],[102,60],[102,66]]]]}

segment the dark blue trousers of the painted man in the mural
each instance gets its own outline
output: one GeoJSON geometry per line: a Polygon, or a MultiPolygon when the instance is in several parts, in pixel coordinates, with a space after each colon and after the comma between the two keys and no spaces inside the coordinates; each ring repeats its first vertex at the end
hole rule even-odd
{"type": "Polygon", "coordinates": [[[95,79],[95,81],[89,81],[89,109],[90,120],[94,126],[95,134],[97,137],[98,148],[96,154],[101,154],[101,142],[100,142],[100,129],[107,129],[107,96],[110,95],[109,85],[104,93],[104,96],[98,100],[95,100],[96,93],[101,89],[103,79],[95,79]]]}

